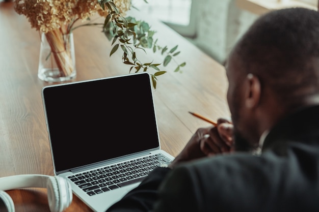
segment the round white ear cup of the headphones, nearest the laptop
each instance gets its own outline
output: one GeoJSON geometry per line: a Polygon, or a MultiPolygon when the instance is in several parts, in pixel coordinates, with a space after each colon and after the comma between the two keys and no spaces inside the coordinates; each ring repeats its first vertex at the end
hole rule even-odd
{"type": "Polygon", "coordinates": [[[47,197],[51,212],[62,212],[72,202],[72,189],[69,182],[59,176],[47,179],[47,197]]]}

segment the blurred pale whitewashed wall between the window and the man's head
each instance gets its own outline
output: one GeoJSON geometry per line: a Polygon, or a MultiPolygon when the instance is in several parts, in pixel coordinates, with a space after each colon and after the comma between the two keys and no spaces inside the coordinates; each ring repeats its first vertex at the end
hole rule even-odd
{"type": "Polygon", "coordinates": [[[235,0],[197,0],[197,33],[193,42],[223,64],[235,42],[257,15],[239,9],[235,0]]]}

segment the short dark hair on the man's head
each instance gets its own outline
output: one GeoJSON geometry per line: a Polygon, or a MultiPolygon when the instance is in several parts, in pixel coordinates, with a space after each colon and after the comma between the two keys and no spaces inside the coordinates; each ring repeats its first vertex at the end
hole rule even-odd
{"type": "Polygon", "coordinates": [[[237,43],[234,54],[244,74],[257,75],[278,99],[304,96],[301,87],[318,93],[319,13],[289,8],[265,14],[237,43]]]}

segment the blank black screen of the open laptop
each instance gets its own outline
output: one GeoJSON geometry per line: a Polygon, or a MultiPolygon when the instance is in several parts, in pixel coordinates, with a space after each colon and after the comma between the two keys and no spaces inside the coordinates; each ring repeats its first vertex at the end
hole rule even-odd
{"type": "Polygon", "coordinates": [[[44,87],[56,172],[159,147],[149,74],[44,87]]]}

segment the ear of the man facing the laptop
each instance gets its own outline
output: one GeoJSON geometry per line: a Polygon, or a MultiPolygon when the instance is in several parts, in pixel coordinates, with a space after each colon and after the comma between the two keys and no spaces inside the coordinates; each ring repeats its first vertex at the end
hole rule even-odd
{"type": "Polygon", "coordinates": [[[245,105],[248,108],[255,108],[259,104],[261,95],[261,86],[258,77],[253,74],[248,74],[246,77],[246,94],[245,105]]]}

